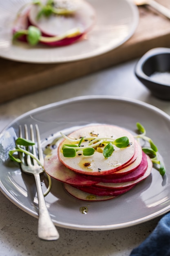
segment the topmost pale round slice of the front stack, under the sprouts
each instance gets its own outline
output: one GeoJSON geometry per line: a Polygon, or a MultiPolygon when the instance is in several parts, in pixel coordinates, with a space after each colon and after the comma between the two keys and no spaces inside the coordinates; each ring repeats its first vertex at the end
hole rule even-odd
{"type": "MultiPolygon", "coordinates": [[[[113,139],[126,136],[128,137],[131,145],[126,148],[118,148],[114,146],[115,150],[113,154],[108,158],[105,158],[104,155],[97,150],[95,150],[95,153],[91,156],[83,156],[77,154],[76,157],[64,157],[62,153],[62,146],[64,144],[71,144],[68,139],[64,139],[58,147],[58,157],[67,168],[70,168],[77,173],[86,175],[105,175],[120,170],[120,168],[125,166],[134,157],[135,139],[133,135],[127,130],[118,126],[86,126],[76,130],[75,132],[72,132],[68,137],[73,139],[79,139],[80,137],[88,138],[92,136],[91,134],[97,135],[97,138],[113,136],[113,139]]],[[[89,141],[84,141],[82,144],[87,146],[89,141]]],[[[82,150],[79,150],[78,152],[82,153],[82,150]]]]}

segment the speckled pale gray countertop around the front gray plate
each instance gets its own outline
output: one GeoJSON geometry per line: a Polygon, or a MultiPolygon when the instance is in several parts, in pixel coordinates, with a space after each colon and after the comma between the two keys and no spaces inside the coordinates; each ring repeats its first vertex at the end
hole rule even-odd
{"type": "MultiPolygon", "coordinates": [[[[54,86],[0,105],[0,130],[34,108],[83,95],[116,95],[150,103],[170,114],[170,102],[161,101],[136,79],[137,60],[75,81],[54,86]]],[[[157,225],[159,218],[109,231],[78,231],[58,227],[60,239],[43,241],[37,236],[38,220],[0,193],[0,255],[2,256],[128,256],[157,225]]]]}

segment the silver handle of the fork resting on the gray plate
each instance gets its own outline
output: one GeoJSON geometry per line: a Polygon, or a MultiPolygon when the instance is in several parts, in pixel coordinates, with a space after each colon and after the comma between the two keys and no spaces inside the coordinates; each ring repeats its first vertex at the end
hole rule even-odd
{"type": "Polygon", "coordinates": [[[49,211],[46,207],[46,202],[44,200],[44,195],[42,192],[40,174],[34,174],[35,183],[37,187],[38,195],[38,208],[39,208],[39,218],[38,218],[38,236],[43,240],[57,240],[59,238],[58,231],[53,224],[49,211]]]}

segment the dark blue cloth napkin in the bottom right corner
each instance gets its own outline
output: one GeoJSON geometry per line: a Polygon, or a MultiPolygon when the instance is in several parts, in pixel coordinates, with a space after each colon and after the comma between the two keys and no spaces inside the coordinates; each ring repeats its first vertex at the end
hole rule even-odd
{"type": "Polygon", "coordinates": [[[159,220],[150,236],[130,256],[170,256],[170,213],[159,220]]]}

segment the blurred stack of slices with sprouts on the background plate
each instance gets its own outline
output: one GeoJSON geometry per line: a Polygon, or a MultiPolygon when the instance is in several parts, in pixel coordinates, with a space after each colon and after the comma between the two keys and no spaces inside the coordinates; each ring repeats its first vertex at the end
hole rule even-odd
{"type": "Polygon", "coordinates": [[[41,0],[22,8],[13,25],[13,34],[14,38],[32,45],[64,46],[82,38],[94,22],[95,10],[84,0],[41,0]],[[70,7],[72,3],[74,8],[70,7]]]}

